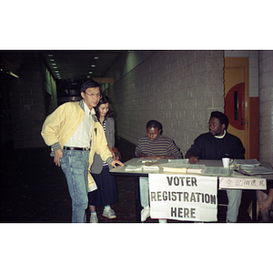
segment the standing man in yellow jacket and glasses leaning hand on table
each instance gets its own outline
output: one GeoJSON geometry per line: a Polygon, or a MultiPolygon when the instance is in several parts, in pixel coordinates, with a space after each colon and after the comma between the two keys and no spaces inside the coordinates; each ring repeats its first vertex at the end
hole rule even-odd
{"type": "Polygon", "coordinates": [[[97,121],[94,107],[101,97],[101,87],[93,80],[81,86],[80,102],[58,106],[46,117],[42,136],[51,146],[56,166],[62,167],[72,198],[72,222],[86,222],[87,192],[96,189],[90,174],[95,153],[108,164],[124,166],[112,158],[103,127],[97,121]]]}

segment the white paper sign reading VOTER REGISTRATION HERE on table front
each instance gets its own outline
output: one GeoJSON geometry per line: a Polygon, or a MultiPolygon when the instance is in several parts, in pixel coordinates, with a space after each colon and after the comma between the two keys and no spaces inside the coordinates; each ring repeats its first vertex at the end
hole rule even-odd
{"type": "Polygon", "coordinates": [[[149,174],[150,216],[217,221],[217,177],[149,174]]]}

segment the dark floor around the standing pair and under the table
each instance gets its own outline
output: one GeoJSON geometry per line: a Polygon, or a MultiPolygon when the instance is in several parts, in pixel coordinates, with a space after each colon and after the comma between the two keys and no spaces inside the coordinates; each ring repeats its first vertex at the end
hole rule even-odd
{"type": "MultiPolygon", "coordinates": [[[[135,147],[122,139],[116,140],[123,161],[134,157],[135,147]]],[[[1,218],[2,223],[70,223],[71,199],[66,178],[60,167],[49,157],[49,148],[18,149],[12,144],[1,147],[1,218]]],[[[135,185],[133,177],[116,177],[118,202],[113,204],[116,219],[102,217],[99,222],[135,223],[135,185]]],[[[244,191],[238,222],[250,222],[248,206],[252,193],[244,191]]],[[[227,203],[225,192],[219,192],[219,203],[227,203]]],[[[227,207],[218,207],[218,222],[224,222],[227,207]]],[[[87,220],[89,211],[87,210],[87,220]]],[[[157,223],[155,219],[147,219],[157,223]]],[[[177,222],[178,221],[169,221],[177,222]]]]}

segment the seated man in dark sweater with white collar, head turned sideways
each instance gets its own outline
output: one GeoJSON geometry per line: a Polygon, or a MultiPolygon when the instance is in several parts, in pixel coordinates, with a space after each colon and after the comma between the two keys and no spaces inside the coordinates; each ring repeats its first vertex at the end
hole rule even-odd
{"type": "MultiPolygon", "coordinates": [[[[186,158],[195,164],[199,159],[221,160],[223,157],[243,159],[245,149],[237,136],[227,133],[228,118],[225,114],[212,112],[208,122],[209,132],[197,136],[188,149],[186,158]]],[[[227,189],[227,222],[237,222],[242,190],[227,189]]]]}

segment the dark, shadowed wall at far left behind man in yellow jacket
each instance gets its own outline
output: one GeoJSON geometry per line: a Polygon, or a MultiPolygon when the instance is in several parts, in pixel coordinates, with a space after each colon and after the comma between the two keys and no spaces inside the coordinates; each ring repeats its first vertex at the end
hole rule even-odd
{"type": "MultiPolygon", "coordinates": [[[[48,90],[45,65],[35,51],[22,52],[18,60],[20,77],[9,82],[14,145],[15,148],[44,147],[41,128],[45,121],[45,91],[48,90]]],[[[48,105],[50,107],[50,102],[48,105]]]]}

